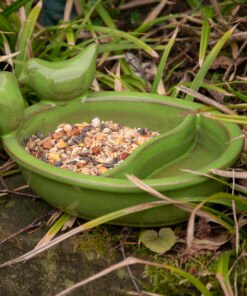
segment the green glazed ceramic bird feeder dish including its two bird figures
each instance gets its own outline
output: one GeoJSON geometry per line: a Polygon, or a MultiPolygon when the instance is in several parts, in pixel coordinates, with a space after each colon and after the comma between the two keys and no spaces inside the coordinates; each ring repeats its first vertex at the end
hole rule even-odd
{"type": "MultiPolygon", "coordinates": [[[[39,59],[26,62],[20,82],[40,102],[25,108],[18,82],[10,72],[0,73],[0,136],[4,149],[21,168],[34,192],[48,203],[85,219],[156,200],[131,183],[135,175],[166,196],[208,196],[224,187],[204,176],[210,169],[232,166],[239,158],[243,138],[235,124],[222,123],[195,112],[200,104],[167,96],[134,92],[89,93],[96,68],[97,48],[88,46],[64,62],[39,59]],[[185,113],[189,115],[184,115],[185,113]],[[24,139],[41,131],[48,135],[61,123],[99,117],[129,127],[147,127],[159,136],[138,147],[121,164],[101,176],[61,169],[25,152],[24,139]]],[[[173,205],[130,214],[114,224],[140,227],[175,224],[188,213],[173,205]]]]}

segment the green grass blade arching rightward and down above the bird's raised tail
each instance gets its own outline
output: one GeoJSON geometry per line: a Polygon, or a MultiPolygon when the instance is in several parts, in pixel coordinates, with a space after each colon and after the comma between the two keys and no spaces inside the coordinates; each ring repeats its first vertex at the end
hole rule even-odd
{"type": "Polygon", "coordinates": [[[134,37],[133,35],[131,35],[129,33],[126,33],[126,32],[123,32],[123,31],[120,31],[117,29],[101,27],[101,26],[89,26],[88,28],[92,31],[111,34],[112,36],[116,36],[119,38],[123,38],[123,39],[129,40],[129,41],[132,41],[133,43],[135,43],[138,46],[139,49],[143,49],[150,56],[152,56],[154,58],[159,57],[158,53],[155,50],[153,50],[149,45],[147,45],[145,42],[134,37]]]}

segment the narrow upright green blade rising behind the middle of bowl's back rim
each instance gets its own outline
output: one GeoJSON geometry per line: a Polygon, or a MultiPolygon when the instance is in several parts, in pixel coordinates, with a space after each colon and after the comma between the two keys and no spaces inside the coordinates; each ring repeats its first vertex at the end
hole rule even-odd
{"type": "Polygon", "coordinates": [[[163,52],[163,55],[162,55],[162,58],[161,58],[161,61],[160,61],[160,64],[159,64],[159,67],[158,67],[158,70],[157,70],[157,74],[155,76],[155,79],[154,79],[154,82],[153,82],[153,85],[152,85],[152,89],[151,89],[151,93],[157,93],[157,90],[158,90],[158,87],[159,87],[159,83],[160,83],[160,80],[162,79],[162,75],[163,75],[163,72],[164,72],[164,68],[165,68],[165,64],[166,64],[166,61],[167,61],[167,58],[168,58],[168,55],[172,49],[172,46],[176,40],[176,37],[177,37],[177,33],[178,33],[178,28],[176,28],[176,30],[174,31],[172,37],[170,38],[164,52],[163,52]]]}

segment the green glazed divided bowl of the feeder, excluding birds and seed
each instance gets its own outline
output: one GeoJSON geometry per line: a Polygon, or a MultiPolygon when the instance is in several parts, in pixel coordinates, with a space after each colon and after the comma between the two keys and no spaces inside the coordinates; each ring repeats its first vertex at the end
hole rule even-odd
{"type": "MultiPolygon", "coordinates": [[[[200,105],[164,96],[140,93],[95,93],[67,105],[40,103],[25,111],[16,135],[3,137],[6,151],[17,161],[31,188],[53,206],[91,219],[154,197],[127,180],[135,174],[156,190],[173,198],[208,196],[223,185],[181,169],[208,172],[226,168],[239,157],[243,139],[234,124],[222,124],[184,111],[200,105]],[[95,116],[130,127],[148,127],[160,136],[137,148],[122,164],[102,176],[63,170],[42,162],[24,151],[23,138],[37,130],[48,134],[62,122],[90,121],[95,116]]],[[[115,224],[135,226],[168,225],[187,219],[174,206],[147,210],[123,217],[115,224]]]]}

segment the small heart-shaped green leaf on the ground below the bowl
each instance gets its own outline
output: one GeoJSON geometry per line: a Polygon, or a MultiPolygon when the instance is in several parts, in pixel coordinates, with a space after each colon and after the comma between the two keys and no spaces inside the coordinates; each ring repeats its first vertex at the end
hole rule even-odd
{"type": "Polygon", "coordinates": [[[151,251],[164,254],[169,251],[176,242],[176,237],[171,228],[155,230],[143,230],[139,236],[139,243],[143,243],[151,251]]]}

